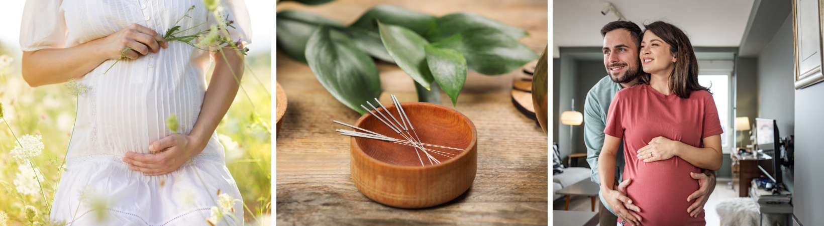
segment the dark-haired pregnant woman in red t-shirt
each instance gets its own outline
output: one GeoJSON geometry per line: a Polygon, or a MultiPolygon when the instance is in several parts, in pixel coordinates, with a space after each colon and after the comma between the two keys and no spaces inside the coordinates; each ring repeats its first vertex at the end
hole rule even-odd
{"type": "MultiPolygon", "coordinates": [[[[699,188],[690,172],[721,167],[723,133],[709,89],[698,84],[698,62],[681,29],[656,21],[646,26],[639,58],[642,84],[621,89],[611,103],[598,158],[602,185],[612,185],[616,152],[624,141],[623,178],[629,200],[606,199],[611,207],[639,207],[642,225],[705,225],[704,212],[691,216],[688,196],[699,188]]],[[[603,194],[616,196],[611,186],[603,194]]],[[[620,225],[620,224],[619,224],[620,225]]]]}

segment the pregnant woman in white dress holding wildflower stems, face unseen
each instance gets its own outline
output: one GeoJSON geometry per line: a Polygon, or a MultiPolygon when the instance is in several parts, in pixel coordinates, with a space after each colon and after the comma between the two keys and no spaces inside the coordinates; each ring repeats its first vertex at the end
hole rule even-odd
{"type": "MultiPolygon", "coordinates": [[[[250,42],[246,3],[223,0],[221,5],[236,27],[229,28],[232,39],[250,42]]],[[[236,96],[239,84],[232,73],[241,76],[243,57],[232,50],[220,54],[166,42],[162,32],[192,6],[190,17],[177,26],[197,27],[181,35],[217,23],[209,21],[213,13],[201,0],[26,1],[23,78],[32,87],[72,78],[90,87],[77,97],[77,124],[52,220],[208,225],[212,207],[221,206],[218,192],[241,200],[215,128],[236,96]],[[126,47],[131,48],[125,52],[128,59],[115,64],[126,47]],[[210,58],[215,66],[207,88],[210,58]],[[177,131],[166,127],[170,115],[179,121],[177,131]],[[105,205],[90,205],[91,198],[105,205]]],[[[233,210],[217,224],[242,222],[240,201],[226,207],[233,210]]]]}

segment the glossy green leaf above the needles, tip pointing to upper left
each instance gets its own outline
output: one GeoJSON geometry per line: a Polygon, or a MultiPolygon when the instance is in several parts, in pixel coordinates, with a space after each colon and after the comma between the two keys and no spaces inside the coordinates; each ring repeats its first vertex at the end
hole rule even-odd
{"type": "Polygon", "coordinates": [[[424,45],[428,45],[429,42],[403,26],[387,25],[380,21],[377,24],[383,45],[395,63],[415,82],[428,89],[429,84],[434,81],[432,73],[429,73],[424,52],[424,45]]]}

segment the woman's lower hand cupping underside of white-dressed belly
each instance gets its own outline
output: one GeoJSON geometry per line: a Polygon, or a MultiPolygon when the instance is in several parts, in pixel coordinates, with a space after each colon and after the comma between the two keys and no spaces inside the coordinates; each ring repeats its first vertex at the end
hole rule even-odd
{"type": "Polygon", "coordinates": [[[123,162],[129,169],[143,172],[146,176],[158,176],[174,172],[190,158],[203,152],[208,139],[202,141],[196,136],[171,134],[149,144],[151,153],[126,153],[123,162]]]}

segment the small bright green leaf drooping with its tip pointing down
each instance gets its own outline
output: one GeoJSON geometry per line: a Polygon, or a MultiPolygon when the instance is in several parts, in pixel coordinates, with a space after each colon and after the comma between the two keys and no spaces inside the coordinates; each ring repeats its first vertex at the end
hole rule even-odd
{"type": "Polygon", "coordinates": [[[424,46],[426,64],[435,78],[435,82],[452,99],[452,106],[456,106],[458,93],[466,82],[466,59],[455,49],[442,49],[432,45],[424,46]]]}

